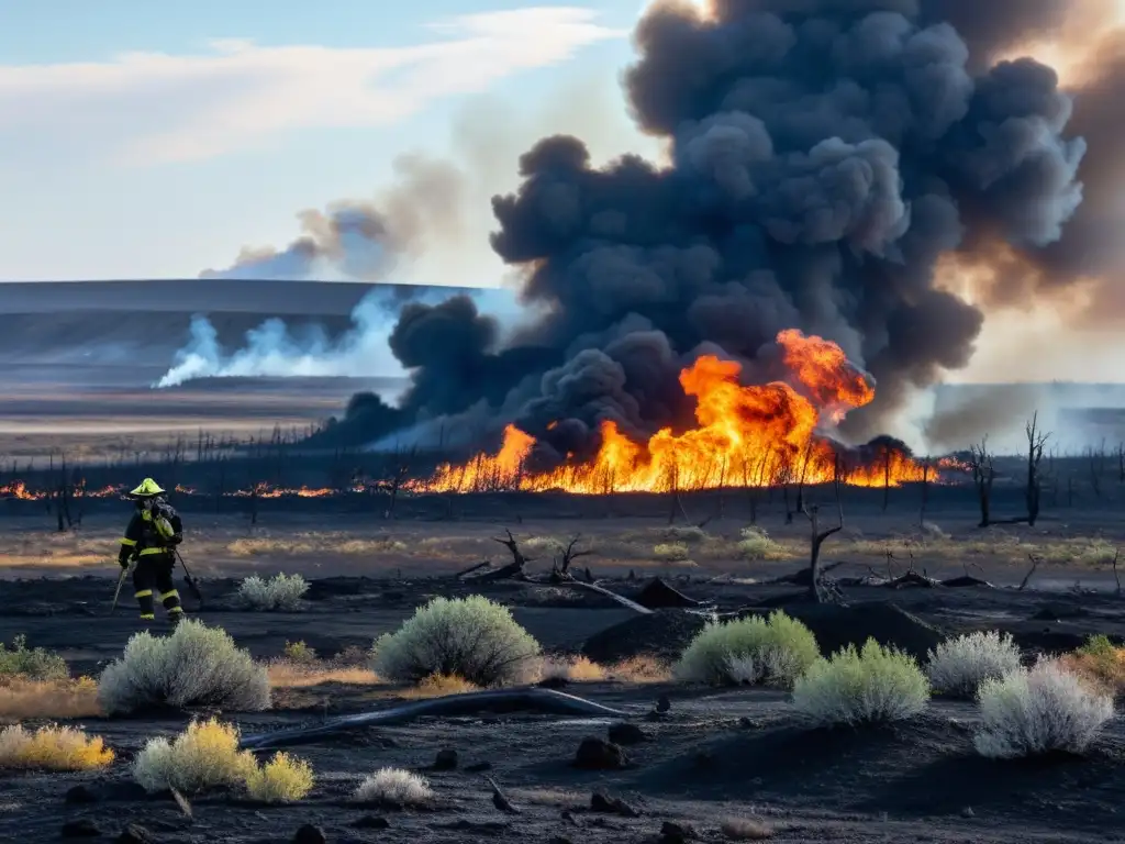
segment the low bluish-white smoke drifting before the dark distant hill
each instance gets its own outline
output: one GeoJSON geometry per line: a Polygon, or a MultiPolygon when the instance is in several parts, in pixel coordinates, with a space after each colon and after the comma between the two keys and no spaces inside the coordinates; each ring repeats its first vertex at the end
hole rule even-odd
{"type": "MultiPolygon", "coordinates": [[[[421,288],[410,300],[438,304],[454,293],[450,288],[421,288]]],[[[525,313],[514,294],[504,288],[468,295],[505,329],[514,327],[525,313]]],[[[176,387],[197,378],[405,376],[387,342],[404,302],[389,288],[372,290],[352,308],[352,327],[338,339],[320,326],[294,332],[282,320],[267,320],[248,331],[245,344],[233,351],[222,348],[215,326],[197,314],[191,318],[191,339],[176,353],[172,368],[152,386],[176,387]]]]}

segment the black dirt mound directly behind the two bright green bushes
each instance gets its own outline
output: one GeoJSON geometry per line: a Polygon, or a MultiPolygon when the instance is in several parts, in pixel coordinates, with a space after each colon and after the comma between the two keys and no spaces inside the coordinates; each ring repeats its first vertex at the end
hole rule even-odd
{"type": "MultiPolygon", "coordinates": [[[[744,614],[766,616],[772,610],[750,610],[744,614]]],[[[836,604],[791,603],[785,614],[812,630],[824,654],[834,654],[847,645],[860,647],[868,638],[881,645],[893,645],[918,659],[946,638],[937,627],[911,616],[894,604],[868,601],[838,607],[836,604]]]]}

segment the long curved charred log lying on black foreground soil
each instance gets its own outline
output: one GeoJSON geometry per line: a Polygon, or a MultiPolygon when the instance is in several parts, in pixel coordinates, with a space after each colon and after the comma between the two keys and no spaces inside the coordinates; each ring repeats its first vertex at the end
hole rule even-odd
{"type": "Polygon", "coordinates": [[[310,727],[294,727],[273,733],[260,733],[255,736],[244,736],[240,746],[248,751],[264,751],[274,747],[291,747],[298,744],[310,744],[320,738],[345,733],[356,727],[408,724],[416,718],[426,716],[467,716],[477,715],[488,709],[500,708],[504,711],[531,710],[546,715],[594,716],[627,718],[628,712],[620,709],[603,707],[601,703],[578,698],[574,694],[558,692],[554,689],[514,689],[504,691],[470,692],[468,694],[450,694],[444,698],[420,700],[404,703],[375,712],[333,718],[310,727]]]}

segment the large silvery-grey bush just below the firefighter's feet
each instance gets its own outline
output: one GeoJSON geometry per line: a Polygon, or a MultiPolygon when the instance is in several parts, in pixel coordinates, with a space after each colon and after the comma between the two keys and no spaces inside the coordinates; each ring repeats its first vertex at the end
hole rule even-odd
{"type": "Polygon", "coordinates": [[[170,636],[134,634],[101,673],[98,700],[107,715],[213,707],[258,711],[270,704],[266,666],[216,627],[184,619],[170,636]]]}

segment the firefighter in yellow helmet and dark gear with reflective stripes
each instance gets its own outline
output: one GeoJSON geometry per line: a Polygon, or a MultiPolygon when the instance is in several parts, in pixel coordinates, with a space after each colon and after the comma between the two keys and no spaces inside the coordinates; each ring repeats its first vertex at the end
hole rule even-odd
{"type": "Polygon", "coordinates": [[[125,529],[117,562],[122,568],[136,563],[133,586],[137,603],[141,604],[141,619],[155,620],[153,590],[156,590],[168,619],[174,627],[183,618],[180,593],[172,581],[176,546],[183,541],[183,524],[163,495],[160,484],[151,477],[146,477],[129,492],[129,497],[136,503],[136,512],[125,529]]]}

